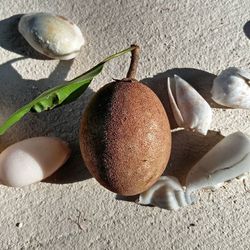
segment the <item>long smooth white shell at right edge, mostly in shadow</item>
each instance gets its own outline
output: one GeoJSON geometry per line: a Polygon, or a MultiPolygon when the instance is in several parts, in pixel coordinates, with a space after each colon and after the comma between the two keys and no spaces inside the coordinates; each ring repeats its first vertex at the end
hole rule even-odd
{"type": "Polygon", "coordinates": [[[186,177],[190,195],[203,188],[219,188],[224,182],[250,172],[250,138],[233,133],[216,144],[196,163],[186,177]]]}

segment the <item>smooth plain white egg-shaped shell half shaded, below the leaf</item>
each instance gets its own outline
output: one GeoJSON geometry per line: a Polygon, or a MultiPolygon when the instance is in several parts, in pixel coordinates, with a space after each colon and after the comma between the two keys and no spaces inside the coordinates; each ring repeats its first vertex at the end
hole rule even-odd
{"type": "Polygon", "coordinates": [[[22,187],[45,179],[69,158],[70,149],[60,139],[34,137],[17,142],[0,154],[0,183],[22,187]]]}

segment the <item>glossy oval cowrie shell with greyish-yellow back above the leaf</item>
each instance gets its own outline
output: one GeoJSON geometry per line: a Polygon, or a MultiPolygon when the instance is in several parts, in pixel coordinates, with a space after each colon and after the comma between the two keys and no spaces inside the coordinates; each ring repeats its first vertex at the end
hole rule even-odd
{"type": "Polygon", "coordinates": [[[81,30],[74,23],[50,13],[23,15],[18,30],[35,50],[60,60],[76,57],[85,43],[81,30]]]}

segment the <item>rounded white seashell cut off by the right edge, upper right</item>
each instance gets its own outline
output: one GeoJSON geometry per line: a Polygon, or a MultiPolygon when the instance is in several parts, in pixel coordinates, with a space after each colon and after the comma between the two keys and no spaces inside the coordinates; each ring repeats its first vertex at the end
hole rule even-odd
{"type": "Polygon", "coordinates": [[[223,70],[213,82],[212,99],[231,108],[250,108],[250,72],[239,68],[223,70]]]}

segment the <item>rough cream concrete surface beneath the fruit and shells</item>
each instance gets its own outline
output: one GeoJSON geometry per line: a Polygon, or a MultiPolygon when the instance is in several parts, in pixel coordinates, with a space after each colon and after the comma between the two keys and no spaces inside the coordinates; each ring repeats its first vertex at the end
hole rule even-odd
{"type": "MultiPolygon", "coordinates": [[[[182,181],[187,169],[222,139],[249,129],[249,111],[223,109],[209,90],[229,66],[250,68],[250,1],[0,0],[0,122],[42,90],[86,71],[105,56],[137,42],[138,79],[164,103],[172,128],[166,78],[178,73],[211,103],[207,137],[173,132],[167,172],[182,181]],[[17,14],[50,11],[74,20],[87,45],[70,62],[45,60],[16,32],[17,14]],[[14,17],[13,17],[14,16],[14,17]],[[222,135],[218,133],[221,131],[222,135]]],[[[93,93],[125,76],[129,56],[109,63],[78,101],[28,115],[0,137],[1,149],[23,138],[56,135],[70,142],[71,160],[45,182],[0,187],[0,249],[250,249],[250,179],[204,191],[179,211],[143,207],[102,188],[81,160],[78,128],[93,93]]]]}

